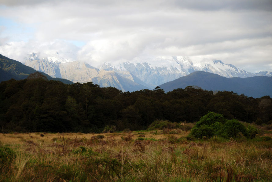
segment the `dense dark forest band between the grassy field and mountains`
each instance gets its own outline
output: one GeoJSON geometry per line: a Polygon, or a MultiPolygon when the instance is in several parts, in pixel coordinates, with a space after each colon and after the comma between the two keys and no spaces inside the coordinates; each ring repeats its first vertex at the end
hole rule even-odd
{"type": "Polygon", "coordinates": [[[92,82],[68,85],[42,78],[0,84],[2,132],[101,132],[105,126],[139,130],[156,119],[196,122],[208,111],[261,124],[271,122],[271,106],[270,96],[214,95],[192,86],[168,93],[160,88],[130,93],[92,82]]]}

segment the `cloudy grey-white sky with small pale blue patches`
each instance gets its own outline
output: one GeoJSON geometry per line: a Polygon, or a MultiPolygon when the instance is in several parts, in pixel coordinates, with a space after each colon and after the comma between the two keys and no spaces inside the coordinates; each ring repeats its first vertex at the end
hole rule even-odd
{"type": "Polygon", "coordinates": [[[272,71],[272,0],[1,0],[0,54],[85,61],[186,56],[272,71]]]}

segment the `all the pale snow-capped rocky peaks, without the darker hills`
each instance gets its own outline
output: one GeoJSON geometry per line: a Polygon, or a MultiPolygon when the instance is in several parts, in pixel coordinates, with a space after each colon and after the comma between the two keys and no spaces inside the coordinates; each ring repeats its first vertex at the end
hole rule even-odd
{"type": "Polygon", "coordinates": [[[220,60],[192,61],[189,58],[178,57],[141,57],[131,61],[120,63],[103,63],[97,69],[87,63],[64,59],[59,55],[40,58],[39,54],[30,54],[25,65],[37,71],[45,72],[52,77],[59,77],[71,80],[72,82],[94,82],[100,86],[114,86],[123,91],[128,91],[124,86],[127,83],[135,86],[134,90],[143,88],[155,88],[166,82],[179,77],[189,75],[194,71],[206,71],[215,73],[227,78],[230,77],[252,77],[252,73],[239,69],[231,64],[224,64],[220,60]],[[110,71],[110,72],[107,72],[110,71]],[[105,74],[103,76],[103,74],[105,74]],[[114,76],[113,76],[114,75],[114,76]],[[110,77],[112,80],[109,81],[110,77]],[[124,79],[127,78],[127,79],[124,79]],[[129,81],[134,82],[133,84],[129,81]],[[122,85],[120,85],[122,83],[122,85]],[[140,87],[138,86],[140,85],[140,87]]]}

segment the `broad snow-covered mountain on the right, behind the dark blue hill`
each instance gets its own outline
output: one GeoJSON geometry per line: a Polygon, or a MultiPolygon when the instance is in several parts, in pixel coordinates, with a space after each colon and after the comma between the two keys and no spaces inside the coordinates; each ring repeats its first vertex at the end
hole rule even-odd
{"type": "Polygon", "coordinates": [[[232,64],[224,64],[220,60],[197,62],[182,56],[137,58],[129,62],[115,65],[104,63],[100,69],[115,71],[119,75],[131,79],[134,82],[137,82],[134,80],[136,77],[152,88],[179,77],[189,75],[194,71],[206,71],[227,78],[246,78],[255,76],[254,74],[237,68],[232,64]]]}

